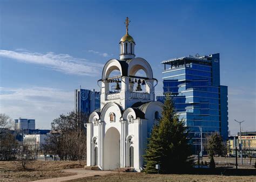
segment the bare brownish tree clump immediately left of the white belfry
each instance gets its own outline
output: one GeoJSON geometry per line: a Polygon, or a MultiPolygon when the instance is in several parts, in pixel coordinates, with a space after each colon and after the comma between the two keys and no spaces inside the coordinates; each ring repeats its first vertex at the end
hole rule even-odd
{"type": "Polygon", "coordinates": [[[60,160],[86,158],[86,132],[84,123],[87,116],[74,112],[60,115],[51,123],[51,134],[46,139],[45,148],[60,157],[60,160]]]}

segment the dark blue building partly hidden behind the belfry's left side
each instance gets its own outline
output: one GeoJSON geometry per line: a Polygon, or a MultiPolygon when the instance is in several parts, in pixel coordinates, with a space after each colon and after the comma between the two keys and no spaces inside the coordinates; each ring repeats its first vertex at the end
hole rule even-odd
{"type": "Polygon", "coordinates": [[[75,110],[76,113],[90,115],[94,110],[100,108],[100,92],[87,89],[75,90],[75,110]]]}

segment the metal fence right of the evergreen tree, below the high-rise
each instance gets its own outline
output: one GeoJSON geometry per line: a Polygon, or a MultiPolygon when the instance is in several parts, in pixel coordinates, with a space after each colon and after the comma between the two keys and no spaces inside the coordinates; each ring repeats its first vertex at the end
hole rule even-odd
{"type": "MultiPolygon", "coordinates": [[[[239,149],[230,149],[227,155],[214,156],[216,167],[232,167],[232,168],[256,168],[256,149],[246,148],[242,150],[242,155],[239,149]]],[[[210,164],[210,156],[195,155],[194,163],[198,167],[208,167],[210,164]]]]}

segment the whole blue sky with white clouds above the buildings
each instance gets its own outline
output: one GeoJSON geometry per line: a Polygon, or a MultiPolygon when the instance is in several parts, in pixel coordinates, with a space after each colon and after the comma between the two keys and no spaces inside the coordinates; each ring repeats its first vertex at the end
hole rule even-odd
{"type": "Polygon", "coordinates": [[[105,62],[119,56],[124,20],[136,56],[160,81],[162,60],[220,53],[229,127],[256,130],[255,1],[0,1],[0,110],[53,118],[74,109],[74,89],[99,90],[105,62]]]}

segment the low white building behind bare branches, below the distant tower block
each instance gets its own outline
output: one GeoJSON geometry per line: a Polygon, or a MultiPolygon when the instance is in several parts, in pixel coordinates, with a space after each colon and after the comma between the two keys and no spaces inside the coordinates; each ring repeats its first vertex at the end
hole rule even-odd
{"type": "Polygon", "coordinates": [[[23,135],[23,144],[28,145],[29,149],[41,149],[45,144],[47,135],[23,135]]]}

